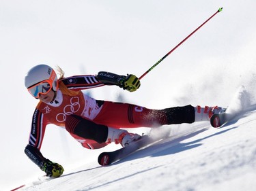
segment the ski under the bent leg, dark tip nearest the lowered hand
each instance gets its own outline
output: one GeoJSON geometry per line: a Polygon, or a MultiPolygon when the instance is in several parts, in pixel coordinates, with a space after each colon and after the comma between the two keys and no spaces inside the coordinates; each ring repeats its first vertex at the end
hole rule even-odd
{"type": "Polygon", "coordinates": [[[130,143],[130,145],[122,147],[119,150],[115,150],[113,152],[102,152],[98,156],[98,163],[101,166],[107,166],[158,140],[159,139],[153,139],[149,135],[143,135],[141,139],[134,141],[130,143]]]}

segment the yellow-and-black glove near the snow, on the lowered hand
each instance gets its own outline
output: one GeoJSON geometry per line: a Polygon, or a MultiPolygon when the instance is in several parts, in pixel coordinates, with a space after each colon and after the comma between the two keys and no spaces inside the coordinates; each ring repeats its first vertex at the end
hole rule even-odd
{"type": "Polygon", "coordinates": [[[44,171],[48,177],[59,177],[64,171],[60,164],[51,162],[51,160],[48,159],[42,163],[40,169],[44,171]]]}

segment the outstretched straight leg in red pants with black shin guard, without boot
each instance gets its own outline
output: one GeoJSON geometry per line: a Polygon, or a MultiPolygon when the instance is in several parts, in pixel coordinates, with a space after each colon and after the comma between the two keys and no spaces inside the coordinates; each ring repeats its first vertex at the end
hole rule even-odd
{"type": "Polygon", "coordinates": [[[167,109],[147,109],[128,103],[104,101],[102,110],[94,118],[98,124],[117,128],[156,127],[163,124],[195,122],[195,108],[191,105],[167,109]]]}

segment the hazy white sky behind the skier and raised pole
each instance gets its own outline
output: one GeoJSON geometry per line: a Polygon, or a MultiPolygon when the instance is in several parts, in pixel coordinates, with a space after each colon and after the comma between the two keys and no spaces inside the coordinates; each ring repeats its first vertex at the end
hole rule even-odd
{"type": "MultiPolygon", "coordinates": [[[[37,101],[24,86],[38,64],[59,65],[66,76],[111,71],[138,77],[218,13],[141,80],[137,92],[90,90],[95,99],[162,109],[221,105],[246,86],[255,103],[256,3],[246,1],[0,1],[0,185],[42,174],[24,154],[37,101]]],[[[57,126],[46,130],[42,153],[63,164],[89,162],[83,149],[57,126]],[[80,160],[80,161],[77,161],[80,160]]]]}

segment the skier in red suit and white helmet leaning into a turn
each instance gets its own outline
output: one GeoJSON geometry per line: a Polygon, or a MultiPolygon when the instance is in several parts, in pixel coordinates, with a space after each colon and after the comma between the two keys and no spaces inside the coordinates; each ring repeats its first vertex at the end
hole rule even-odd
{"type": "Polygon", "coordinates": [[[141,136],[122,128],[158,127],[210,120],[221,107],[170,107],[147,109],[129,103],[96,100],[81,90],[104,85],[116,85],[130,92],[141,83],[135,75],[117,75],[100,71],[97,75],[64,77],[58,67],[59,79],[52,67],[36,65],[25,76],[29,93],[39,99],[33,113],[29,143],[25,154],[49,177],[59,177],[64,169],[60,164],[44,158],[40,147],[47,124],[66,128],[66,131],[87,149],[98,149],[111,142],[126,146],[141,136]]]}

